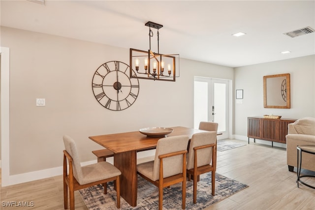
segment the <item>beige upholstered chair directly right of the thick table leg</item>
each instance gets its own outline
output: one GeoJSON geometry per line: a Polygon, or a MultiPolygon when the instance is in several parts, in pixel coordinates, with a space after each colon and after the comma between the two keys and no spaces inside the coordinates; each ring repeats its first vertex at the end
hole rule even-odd
{"type": "Polygon", "coordinates": [[[188,136],[158,140],[154,161],[137,165],[137,173],[158,187],[158,209],[163,206],[163,188],[182,182],[182,209],[186,206],[186,153],[188,136]]]}

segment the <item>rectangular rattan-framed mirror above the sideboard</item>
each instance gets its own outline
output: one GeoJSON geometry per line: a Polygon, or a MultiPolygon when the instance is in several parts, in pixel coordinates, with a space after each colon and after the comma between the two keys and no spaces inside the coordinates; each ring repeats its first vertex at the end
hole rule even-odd
{"type": "Polygon", "coordinates": [[[264,108],[290,108],[290,74],[263,77],[264,108]]]}

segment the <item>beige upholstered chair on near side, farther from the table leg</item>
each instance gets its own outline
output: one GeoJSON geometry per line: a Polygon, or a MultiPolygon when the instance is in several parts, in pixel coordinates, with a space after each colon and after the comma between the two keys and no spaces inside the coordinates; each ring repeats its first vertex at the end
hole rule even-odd
{"type": "Polygon", "coordinates": [[[193,203],[197,202],[197,179],[199,175],[211,172],[212,195],[215,195],[217,162],[216,153],[217,132],[203,132],[194,134],[191,137],[187,158],[187,174],[190,181],[193,176],[193,203]]]}

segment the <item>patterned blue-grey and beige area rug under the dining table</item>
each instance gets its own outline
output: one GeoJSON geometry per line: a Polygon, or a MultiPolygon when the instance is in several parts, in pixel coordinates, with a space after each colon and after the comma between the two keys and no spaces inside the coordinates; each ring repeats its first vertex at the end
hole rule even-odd
{"type": "MultiPolygon", "coordinates": [[[[108,182],[107,194],[103,194],[103,186],[96,185],[79,190],[84,203],[89,210],[115,210],[116,191],[113,182],[108,182]]],[[[124,187],[124,186],[122,186],[124,187]]],[[[216,202],[219,202],[232,194],[248,187],[248,185],[236,180],[216,174],[215,196],[211,195],[211,173],[200,175],[197,186],[197,204],[192,202],[192,181],[187,181],[186,209],[202,210],[216,202]]],[[[158,187],[138,176],[138,203],[131,207],[121,197],[121,210],[157,210],[158,209],[158,187]]],[[[172,185],[163,190],[163,210],[182,209],[182,184],[172,185]]]]}

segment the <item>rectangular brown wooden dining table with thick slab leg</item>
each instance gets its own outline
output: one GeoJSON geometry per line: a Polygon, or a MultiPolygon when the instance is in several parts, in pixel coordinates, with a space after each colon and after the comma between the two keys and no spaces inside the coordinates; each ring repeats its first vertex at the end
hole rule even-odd
{"type": "MultiPolygon", "coordinates": [[[[171,127],[173,132],[166,137],[191,136],[206,132],[186,127],[171,127]]],[[[137,206],[137,151],[155,149],[160,138],[147,137],[139,131],[92,136],[89,139],[111,150],[114,153],[114,166],[121,172],[121,196],[130,206],[137,206]]]]}

